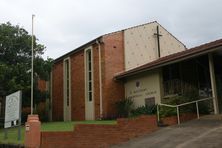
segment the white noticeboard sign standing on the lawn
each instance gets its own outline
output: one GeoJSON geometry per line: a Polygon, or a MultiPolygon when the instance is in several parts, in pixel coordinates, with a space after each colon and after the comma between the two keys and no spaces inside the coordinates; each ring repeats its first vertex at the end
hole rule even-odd
{"type": "Polygon", "coordinates": [[[5,128],[18,126],[21,123],[22,92],[17,91],[6,96],[5,128]]]}

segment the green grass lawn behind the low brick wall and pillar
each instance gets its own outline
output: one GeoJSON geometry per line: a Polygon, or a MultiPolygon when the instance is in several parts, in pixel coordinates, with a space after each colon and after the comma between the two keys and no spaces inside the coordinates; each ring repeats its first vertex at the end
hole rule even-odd
{"type": "MultiPolygon", "coordinates": [[[[72,122],[46,122],[42,123],[41,131],[72,131],[76,124],[116,124],[115,120],[101,121],[72,121],[72,122]]],[[[24,126],[21,128],[22,140],[17,140],[18,128],[8,130],[8,139],[4,140],[4,129],[0,129],[0,143],[23,144],[24,143],[24,126]]]]}

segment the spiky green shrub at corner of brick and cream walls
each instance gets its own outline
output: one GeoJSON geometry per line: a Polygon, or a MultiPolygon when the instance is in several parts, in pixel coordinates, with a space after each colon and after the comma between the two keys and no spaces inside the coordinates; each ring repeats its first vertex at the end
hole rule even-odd
{"type": "Polygon", "coordinates": [[[129,117],[133,109],[134,102],[132,99],[126,98],[116,102],[117,113],[119,117],[129,117]]]}

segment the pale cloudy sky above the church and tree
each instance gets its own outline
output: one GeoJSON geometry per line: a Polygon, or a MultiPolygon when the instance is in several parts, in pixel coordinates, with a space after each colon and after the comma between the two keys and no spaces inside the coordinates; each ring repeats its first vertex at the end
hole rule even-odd
{"type": "Polygon", "coordinates": [[[0,23],[11,22],[56,59],[106,33],[157,21],[187,48],[222,38],[221,0],[0,0],[0,23]]]}

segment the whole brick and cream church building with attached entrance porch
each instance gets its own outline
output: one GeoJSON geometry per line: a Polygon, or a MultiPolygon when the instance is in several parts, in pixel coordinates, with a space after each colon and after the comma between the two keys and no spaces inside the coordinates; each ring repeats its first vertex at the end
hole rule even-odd
{"type": "MultiPolygon", "coordinates": [[[[216,98],[212,56],[208,58],[208,54],[221,49],[218,46],[222,46],[220,42],[213,42],[188,50],[157,22],[102,35],[55,59],[53,120],[110,118],[116,115],[115,103],[120,99],[132,98],[136,106],[157,104],[188,87],[203,94],[212,90],[211,96],[216,98]],[[205,74],[198,81],[194,80],[199,74],[192,76],[195,67],[187,67],[195,66],[195,60],[197,67],[208,66],[208,61],[211,65],[208,71],[199,68],[205,74]],[[182,73],[186,74],[183,79],[182,73]]],[[[218,110],[218,100],[214,104],[218,110]]]]}

